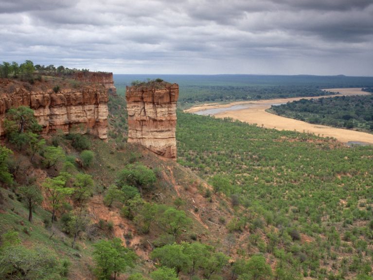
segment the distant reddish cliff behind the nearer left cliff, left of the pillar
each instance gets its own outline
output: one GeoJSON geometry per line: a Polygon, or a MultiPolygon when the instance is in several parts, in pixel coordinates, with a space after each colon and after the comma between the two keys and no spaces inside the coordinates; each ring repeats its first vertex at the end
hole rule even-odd
{"type": "Polygon", "coordinates": [[[90,84],[103,85],[109,94],[117,94],[117,88],[114,86],[113,73],[82,71],[74,73],[73,78],[90,84]]]}

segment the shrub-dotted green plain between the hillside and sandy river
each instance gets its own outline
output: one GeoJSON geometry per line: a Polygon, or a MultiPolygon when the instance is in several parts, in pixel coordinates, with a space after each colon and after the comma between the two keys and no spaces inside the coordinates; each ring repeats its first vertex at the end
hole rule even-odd
{"type": "Polygon", "coordinates": [[[181,111],[177,140],[178,163],[230,197],[243,254],[292,279],[372,279],[372,147],[181,111]]]}

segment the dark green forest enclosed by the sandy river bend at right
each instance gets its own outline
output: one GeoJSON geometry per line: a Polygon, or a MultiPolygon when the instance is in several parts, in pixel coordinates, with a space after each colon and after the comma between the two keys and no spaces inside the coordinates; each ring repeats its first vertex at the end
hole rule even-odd
{"type": "Polygon", "coordinates": [[[272,106],[270,110],[312,124],[373,131],[373,95],[301,99],[272,106]]]}

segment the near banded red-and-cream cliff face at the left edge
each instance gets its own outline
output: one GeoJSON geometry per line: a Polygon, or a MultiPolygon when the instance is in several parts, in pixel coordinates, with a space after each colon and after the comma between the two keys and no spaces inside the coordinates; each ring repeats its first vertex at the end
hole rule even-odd
{"type": "Polygon", "coordinates": [[[84,84],[77,89],[66,85],[55,93],[53,86],[42,82],[32,87],[14,80],[0,79],[0,136],[3,120],[10,108],[28,106],[34,110],[42,134],[63,131],[97,135],[107,139],[107,88],[100,84],[84,84]]]}

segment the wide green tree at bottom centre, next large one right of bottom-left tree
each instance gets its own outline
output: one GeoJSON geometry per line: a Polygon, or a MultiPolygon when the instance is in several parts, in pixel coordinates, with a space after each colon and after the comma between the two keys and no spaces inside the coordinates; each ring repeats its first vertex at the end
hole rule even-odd
{"type": "Polygon", "coordinates": [[[182,245],[176,243],[154,249],[150,257],[158,260],[161,265],[174,268],[176,275],[181,270],[188,271],[191,266],[191,260],[188,255],[184,254],[182,245]]]}

